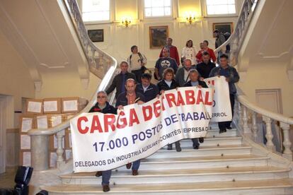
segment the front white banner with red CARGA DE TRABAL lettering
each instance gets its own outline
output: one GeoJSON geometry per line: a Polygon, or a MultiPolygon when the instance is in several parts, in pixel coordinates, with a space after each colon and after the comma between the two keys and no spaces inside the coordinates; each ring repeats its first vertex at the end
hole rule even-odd
{"type": "MultiPolygon", "coordinates": [[[[217,83],[217,82],[216,82],[217,83]]],[[[146,158],[183,138],[205,137],[212,88],[178,88],[117,115],[84,113],[71,119],[74,172],[111,170],[146,158]]]]}

